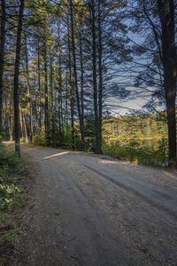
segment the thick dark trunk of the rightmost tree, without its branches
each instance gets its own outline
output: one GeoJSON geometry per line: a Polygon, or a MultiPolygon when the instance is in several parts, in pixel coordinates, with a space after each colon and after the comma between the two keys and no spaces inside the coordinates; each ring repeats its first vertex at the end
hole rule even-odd
{"type": "Polygon", "coordinates": [[[165,103],[168,126],[169,166],[177,166],[176,155],[176,80],[177,56],[174,32],[174,1],[158,0],[158,13],[161,23],[162,59],[164,66],[165,103]]]}

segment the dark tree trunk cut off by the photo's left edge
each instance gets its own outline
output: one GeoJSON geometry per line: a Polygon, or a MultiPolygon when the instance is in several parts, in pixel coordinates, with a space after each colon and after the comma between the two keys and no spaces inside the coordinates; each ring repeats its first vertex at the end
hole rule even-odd
{"type": "Polygon", "coordinates": [[[4,44],[5,44],[5,0],[1,0],[0,35],[0,145],[3,141],[3,90],[4,90],[4,44]]]}

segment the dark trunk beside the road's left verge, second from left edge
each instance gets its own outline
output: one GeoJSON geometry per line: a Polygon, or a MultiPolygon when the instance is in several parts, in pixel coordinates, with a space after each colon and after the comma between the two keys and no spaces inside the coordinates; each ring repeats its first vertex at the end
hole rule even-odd
{"type": "Polygon", "coordinates": [[[22,35],[22,27],[23,27],[24,7],[25,7],[25,0],[20,0],[20,5],[19,5],[19,25],[18,25],[18,31],[17,31],[15,69],[14,69],[14,88],[13,88],[15,152],[19,156],[20,156],[19,63],[20,63],[21,35],[22,35]]]}

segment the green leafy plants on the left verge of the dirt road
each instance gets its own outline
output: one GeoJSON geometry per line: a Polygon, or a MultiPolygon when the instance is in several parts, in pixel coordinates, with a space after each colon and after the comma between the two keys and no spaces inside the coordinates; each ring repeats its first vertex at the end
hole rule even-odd
{"type": "Polygon", "coordinates": [[[0,240],[12,242],[17,228],[14,211],[23,205],[19,176],[23,170],[21,159],[10,147],[0,148],[0,240]]]}

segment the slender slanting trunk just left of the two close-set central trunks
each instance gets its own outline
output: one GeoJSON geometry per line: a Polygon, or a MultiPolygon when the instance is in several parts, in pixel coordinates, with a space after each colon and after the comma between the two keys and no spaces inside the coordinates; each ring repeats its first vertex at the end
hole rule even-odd
{"type": "Polygon", "coordinates": [[[84,125],[81,120],[80,95],[79,95],[79,88],[78,88],[78,76],[77,76],[76,55],[75,55],[75,40],[74,40],[74,29],[73,29],[73,0],[70,0],[70,15],[71,15],[74,85],[75,85],[77,109],[78,109],[80,129],[81,129],[81,143],[82,143],[83,149],[85,150],[84,125]]]}

